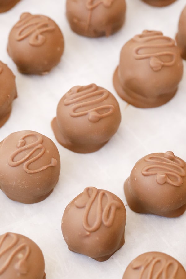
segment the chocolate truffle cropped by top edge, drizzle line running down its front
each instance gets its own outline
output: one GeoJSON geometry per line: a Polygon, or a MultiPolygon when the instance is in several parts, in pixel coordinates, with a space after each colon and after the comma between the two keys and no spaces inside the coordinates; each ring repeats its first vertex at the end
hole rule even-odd
{"type": "Polygon", "coordinates": [[[109,36],[125,21],[125,0],[67,0],[66,15],[71,29],[87,37],[109,36]]]}

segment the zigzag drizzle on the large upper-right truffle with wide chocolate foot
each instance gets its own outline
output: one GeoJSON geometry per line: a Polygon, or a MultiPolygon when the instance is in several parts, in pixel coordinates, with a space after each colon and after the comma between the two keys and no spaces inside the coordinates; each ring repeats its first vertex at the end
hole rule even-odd
{"type": "Polygon", "coordinates": [[[162,32],[145,30],[141,35],[134,36],[133,39],[137,42],[142,43],[141,45],[139,45],[139,47],[136,47],[134,49],[134,58],[137,60],[150,58],[150,67],[154,71],[161,70],[163,66],[170,67],[175,64],[175,54],[172,51],[159,51],[159,52],[157,51],[155,53],[139,54],[139,51],[142,49],[147,49],[147,48],[158,49],[158,48],[175,46],[175,41],[169,37],[163,36],[162,32]],[[161,39],[166,40],[167,43],[148,44],[148,42],[151,42],[153,40],[161,40],[161,39]],[[172,56],[172,60],[170,62],[163,62],[160,59],[160,57],[163,55],[172,56]]]}

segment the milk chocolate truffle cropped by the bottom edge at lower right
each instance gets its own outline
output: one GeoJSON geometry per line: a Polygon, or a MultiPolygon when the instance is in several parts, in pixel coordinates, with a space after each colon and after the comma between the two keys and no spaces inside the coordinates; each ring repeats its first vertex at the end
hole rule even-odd
{"type": "Polygon", "coordinates": [[[161,252],[147,252],[135,258],[122,279],[186,279],[184,267],[175,258],[161,252]]]}

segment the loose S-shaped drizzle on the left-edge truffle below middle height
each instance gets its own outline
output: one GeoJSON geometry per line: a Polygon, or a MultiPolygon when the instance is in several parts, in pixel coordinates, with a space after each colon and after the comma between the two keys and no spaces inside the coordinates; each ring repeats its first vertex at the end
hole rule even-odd
{"type": "Polygon", "coordinates": [[[27,173],[36,173],[36,172],[40,172],[42,170],[46,170],[50,166],[56,166],[57,160],[55,158],[51,158],[50,164],[42,166],[36,170],[29,170],[29,168],[28,168],[29,165],[31,163],[35,162],[36,160],[38,160],[39,158],[41,158],[42,155],[45,153],[45,147],[42,145],[42,142],[43,142],[42,135],[38,134],[36,132],[31,132],[31,133],[23,135],[17,143],[18,149],[15,150],[13,153],[11,153],[11,155],[8,159],[8,164],[10,166],[16,167],[25,162],[23,165],[23,169],[27,173]],[[26,144],[24,139],[29,136],[36,137],[36,141],[31,144],[26,144]],[[19,154],[27,149],[32,149],[32,150],[27,155],[25,155],[21,160],[14,161],[14,158],[17,154],[19,154]],[[41,149],[40,153],[38,153],[38,155],[34,156],[33,158],[29,159],[29,157],[38,149],[41,149]]]}

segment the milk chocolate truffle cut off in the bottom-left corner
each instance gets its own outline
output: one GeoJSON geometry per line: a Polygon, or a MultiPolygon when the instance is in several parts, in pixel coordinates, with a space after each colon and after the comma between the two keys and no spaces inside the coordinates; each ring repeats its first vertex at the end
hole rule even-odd
{"type": "Polygon", "coordinates": [[[24,235],[0,236],[1,279],[45,279],[45,262],[38,245],[24,235]]]}

